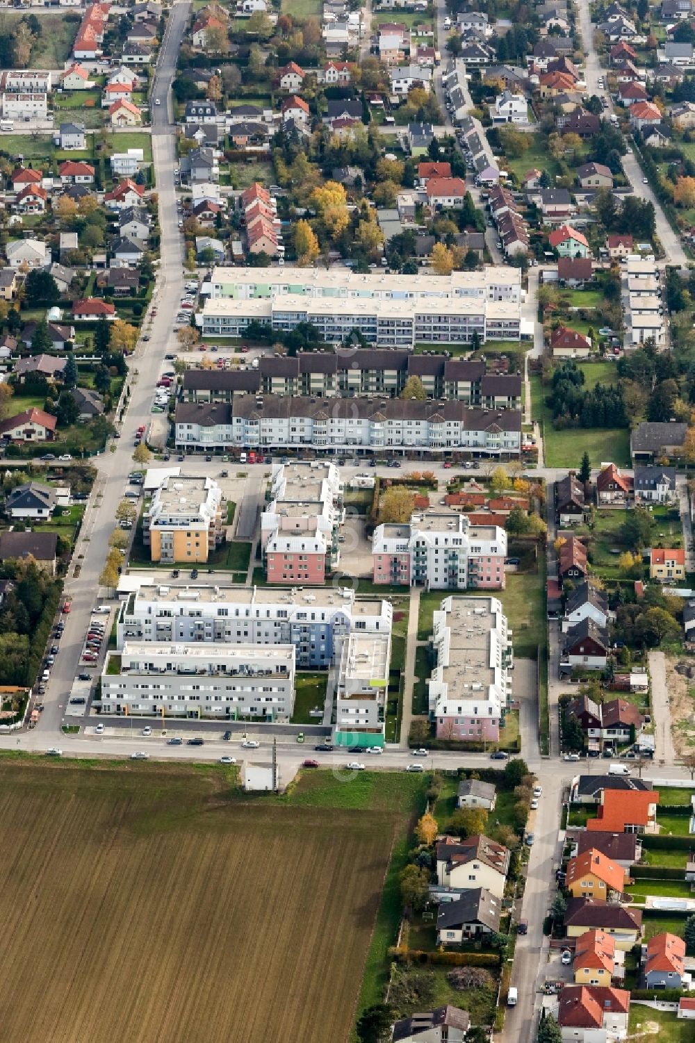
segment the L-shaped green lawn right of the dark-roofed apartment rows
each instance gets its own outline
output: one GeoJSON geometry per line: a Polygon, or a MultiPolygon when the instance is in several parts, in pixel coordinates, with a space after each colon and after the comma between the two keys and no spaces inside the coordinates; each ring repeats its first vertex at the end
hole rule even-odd
{"type": "Polygon", "coordinates": [[[533,419],[543,425],[547,467],[578,467],[584,453],[589,453],[595,463],[613,460],[618,466],[629,464],[630,435],[627,428],[568,428],[555,431],[544,401],[546,393],[541,378],[531,377],[531,412],[533,419]]]}

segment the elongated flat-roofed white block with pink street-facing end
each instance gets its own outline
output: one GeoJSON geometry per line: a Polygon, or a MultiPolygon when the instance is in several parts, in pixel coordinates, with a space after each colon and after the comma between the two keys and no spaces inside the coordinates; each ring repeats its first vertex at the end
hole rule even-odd
{"type": "Polygon", "coordinates": [[[432,618],[428,682],[437,738],[497,742],[511,699],[511,631],[497,598],[451,597],[432,618]]]}

